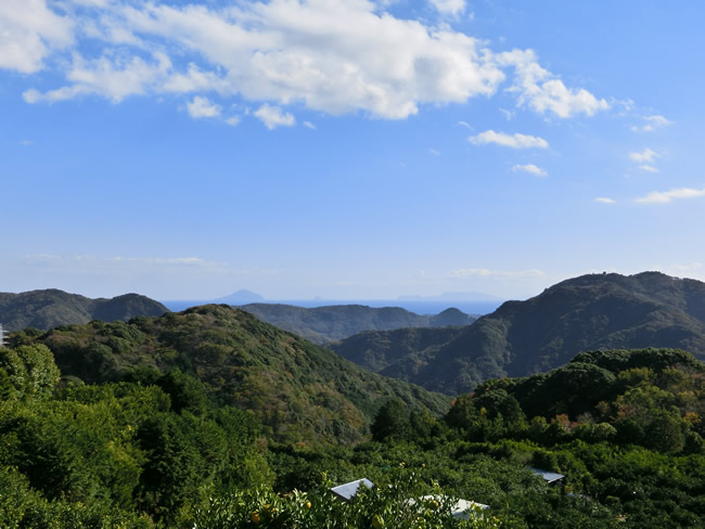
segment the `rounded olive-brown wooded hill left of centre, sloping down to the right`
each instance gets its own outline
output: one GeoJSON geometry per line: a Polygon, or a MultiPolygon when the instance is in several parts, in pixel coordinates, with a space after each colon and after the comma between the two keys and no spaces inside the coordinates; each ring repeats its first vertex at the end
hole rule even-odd
{"type": "Polygon", "coordinates": [[[64,376],[88,383],[150,382],[155,373],[179,369],[202,380],[215,401],[253,411],[279,440],[360,440],[388,397],[434,414],[449,402],[371,374],[229,306],[13,336],[17,344],[44,344],[64,376]]]}

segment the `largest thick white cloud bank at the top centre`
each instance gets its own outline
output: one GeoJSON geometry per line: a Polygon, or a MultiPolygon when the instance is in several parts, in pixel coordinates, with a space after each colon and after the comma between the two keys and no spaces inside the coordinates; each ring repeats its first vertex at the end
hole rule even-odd
{"type": "Polygon", "coordinates": [[[449,28],[375,13],[364,0],[273,0],[209,10],[124,10],[138,34],[161,36],[228,74],[233,92],[330,114],[403,118],[419,104],[491,94],[503,74],[478,42],[449,28]]]}

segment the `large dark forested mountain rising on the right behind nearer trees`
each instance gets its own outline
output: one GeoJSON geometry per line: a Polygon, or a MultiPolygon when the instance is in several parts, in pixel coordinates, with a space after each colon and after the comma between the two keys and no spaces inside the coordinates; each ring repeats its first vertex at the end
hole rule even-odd
{"type": "Polygon", "coordinates": [[[591,349],[674,347],[705,358],[705,283],[658,272],[589,274],[508,301],[462,328],[363,333],[333,346],[373,371],[456,395],[591,349]]]}

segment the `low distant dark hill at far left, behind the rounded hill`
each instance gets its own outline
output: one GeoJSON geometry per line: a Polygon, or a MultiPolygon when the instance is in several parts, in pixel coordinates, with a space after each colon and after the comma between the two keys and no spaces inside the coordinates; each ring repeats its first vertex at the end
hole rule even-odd
{"type": "Polygon", "coordinates": [[[26,327],[47,331],[92,320],[112,322],[136,315],[162,315],[168,311],[161,302],[139,294],[90,299],[55,288],[21,294],[0,293],[0,324],[5,331],[26,327]]]}

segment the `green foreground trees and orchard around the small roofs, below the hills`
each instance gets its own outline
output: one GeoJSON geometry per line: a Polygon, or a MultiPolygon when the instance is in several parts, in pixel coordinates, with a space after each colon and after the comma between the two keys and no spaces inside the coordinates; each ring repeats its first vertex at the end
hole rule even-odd
{"type": "Polygon", "coordinates": [[[441,417],[386,398],[371,439],[316,446],[275,442],[180,371],[150,383],[59,380],[43,345],[0,349],[0,527],[677,529],[705,519],[705,365],[684,351],[585,352],[549,373],[488,380],[441,417]],[[361,477],[375,487],[350,502],[329,492],[361,477]],[[457,518],[456,499],[489,507],[457,518]]]}

